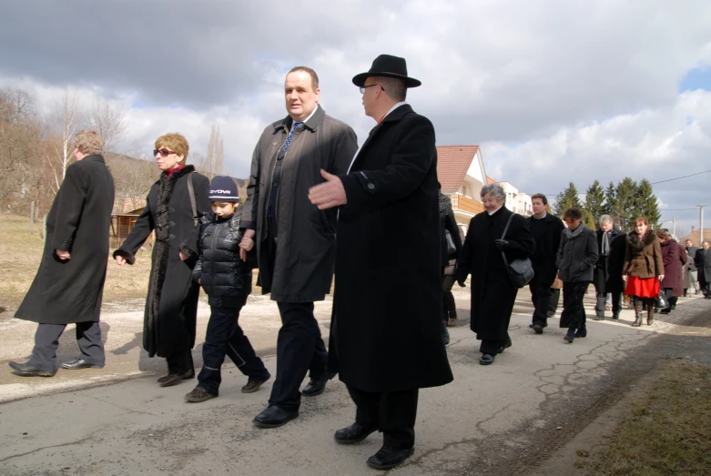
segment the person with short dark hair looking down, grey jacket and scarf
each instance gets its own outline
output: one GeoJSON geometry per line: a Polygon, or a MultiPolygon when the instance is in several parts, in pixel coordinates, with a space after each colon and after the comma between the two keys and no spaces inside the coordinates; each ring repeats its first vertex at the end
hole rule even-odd
{"type": "Polygon", "coordinates": [[[583,299],[585,291],[593,281],[594,267],[599,253],[597,236],[594,230],[587,228],[583,223],[583,212],[580,208],[571,207],[565,210],[563,221],[567,228],[561,234],[555,265],[563,281],[563,312],[560,326],[568,328],[564,339],[572,344],[576,337],[587,336],[583,299]]]}

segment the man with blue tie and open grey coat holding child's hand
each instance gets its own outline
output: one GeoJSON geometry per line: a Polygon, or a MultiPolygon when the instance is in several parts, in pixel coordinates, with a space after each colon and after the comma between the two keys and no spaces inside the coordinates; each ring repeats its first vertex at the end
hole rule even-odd
{"type": "MultiPolygon", "coordinates": [[[[330,292],[336,244],[336,210],[309,202],[309,188],[323,182],[320,170],[346,172],[358,144],[346,124],[319,105],[319,76],[297,66],[286,77],[289,116],[270,124],[254,149],[242,208],[245,239],[257,246],[259,281],[281,315],[277,379],[269,407],[254,423],[279,427],[299,416],[301,394],[326,387],[328,352],[313,316],[313,303],[330,292]],[[302,392],[301,381],[310,372],[302,392]]],[[[243,257],[244,258],[244,257],[243,257]]]]}

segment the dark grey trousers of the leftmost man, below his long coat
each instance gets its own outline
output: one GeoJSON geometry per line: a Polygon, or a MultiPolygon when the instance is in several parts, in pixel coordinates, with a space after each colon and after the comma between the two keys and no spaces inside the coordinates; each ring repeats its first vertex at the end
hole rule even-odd
{"type": "MultiPolygon", "coordinates": [[[[35,333],[35,349],[27,364],[39,370],[54,372],[56,370],[56,348],[66,324],[42,324],[37,326],[35,333]]],[[[101,328],[97,320],[76,323],[76,343],[79,344],[81,356],[79,359],[104,367],[104,344],[101,342],[101,328]]]]}

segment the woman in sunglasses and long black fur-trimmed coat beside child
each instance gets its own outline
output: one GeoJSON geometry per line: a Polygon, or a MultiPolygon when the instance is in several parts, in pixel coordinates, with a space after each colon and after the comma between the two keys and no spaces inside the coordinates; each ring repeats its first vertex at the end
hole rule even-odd
{"type": "Polygon", "coordinates": [[[150,357],[168,360],[168,375],[158,383],[169,387],[195,377],[190,349],[195,345],[199,287],[192,280],[198,258],[193,208],[197,217],[209,211],[209,180],[186,165],[188,141],[180,134],[158,137],[153,155],[162,173],[150,187],[146,208],[114,258],[119,266],[132,265],[138,249],[155,230],[143,347],[150,357]]]}

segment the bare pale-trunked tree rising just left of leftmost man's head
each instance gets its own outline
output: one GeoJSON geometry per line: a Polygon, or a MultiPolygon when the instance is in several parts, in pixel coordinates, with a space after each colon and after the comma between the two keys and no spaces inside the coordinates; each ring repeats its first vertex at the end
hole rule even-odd
{"type": "Polygon", "coordinates": [[[68,91],[56,102],[55,112],[49,117],[50,127],[55,133],[53,152],[47,154],[46,160],[55,174],[52,190],[56,193],[66,176],[66,167],[69,167],[73,150],[71,140],[82,123],[82,114],[79,106],[79,97],[68,91]]]}

